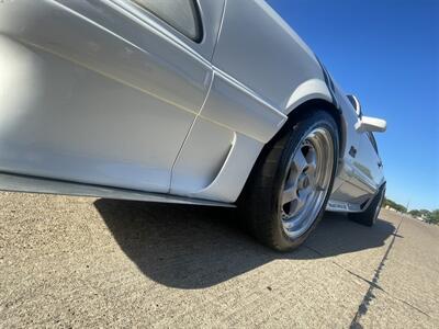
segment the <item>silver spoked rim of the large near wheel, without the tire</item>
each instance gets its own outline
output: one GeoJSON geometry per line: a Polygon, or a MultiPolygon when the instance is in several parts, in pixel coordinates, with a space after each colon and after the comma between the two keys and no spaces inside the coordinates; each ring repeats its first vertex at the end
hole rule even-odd
{"type": "Polygon", "coordinates": [[[315,128],[290,159],[280,195],[282,228],[291,239],[315,222],[328,193],[334,169],[334,141],[329,131],[315,128]]]}

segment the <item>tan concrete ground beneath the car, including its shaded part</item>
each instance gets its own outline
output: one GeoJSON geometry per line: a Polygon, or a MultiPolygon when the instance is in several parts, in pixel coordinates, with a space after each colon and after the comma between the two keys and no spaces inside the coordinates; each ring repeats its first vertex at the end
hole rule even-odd
{"type": "Polygon", "coordinates": [[[0,327],[439,328],[439,227],[326,215],[279,253],[235,215],[0,193],[0,327]]]}

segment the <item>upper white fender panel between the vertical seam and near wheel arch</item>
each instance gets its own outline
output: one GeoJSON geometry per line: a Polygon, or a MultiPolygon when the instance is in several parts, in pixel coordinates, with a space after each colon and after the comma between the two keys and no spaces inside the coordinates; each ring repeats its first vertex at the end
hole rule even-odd
{"type": "Polygon", "coordinates": [[[260,0],[227,2],[213,65],[283,113],[299,86],[324,81],[311,49],[260,0]]]}

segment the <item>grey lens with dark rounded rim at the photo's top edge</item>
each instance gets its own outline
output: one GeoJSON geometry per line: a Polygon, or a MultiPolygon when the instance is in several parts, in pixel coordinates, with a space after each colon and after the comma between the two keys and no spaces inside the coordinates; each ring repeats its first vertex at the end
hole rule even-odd
{"type": "Polygon", "coordinates": [[[195,0],[132,0],[194,42],[202,38],[200,12],[195,0]]]}

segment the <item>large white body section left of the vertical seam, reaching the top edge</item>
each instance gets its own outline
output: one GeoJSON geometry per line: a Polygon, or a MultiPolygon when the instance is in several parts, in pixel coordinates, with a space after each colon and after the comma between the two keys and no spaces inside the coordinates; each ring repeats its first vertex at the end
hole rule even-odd
{"type": "Polygon", "coordinates": [[[212,80],[215,2],[4,3],[0,171],[168,192],[212,80]]]}

